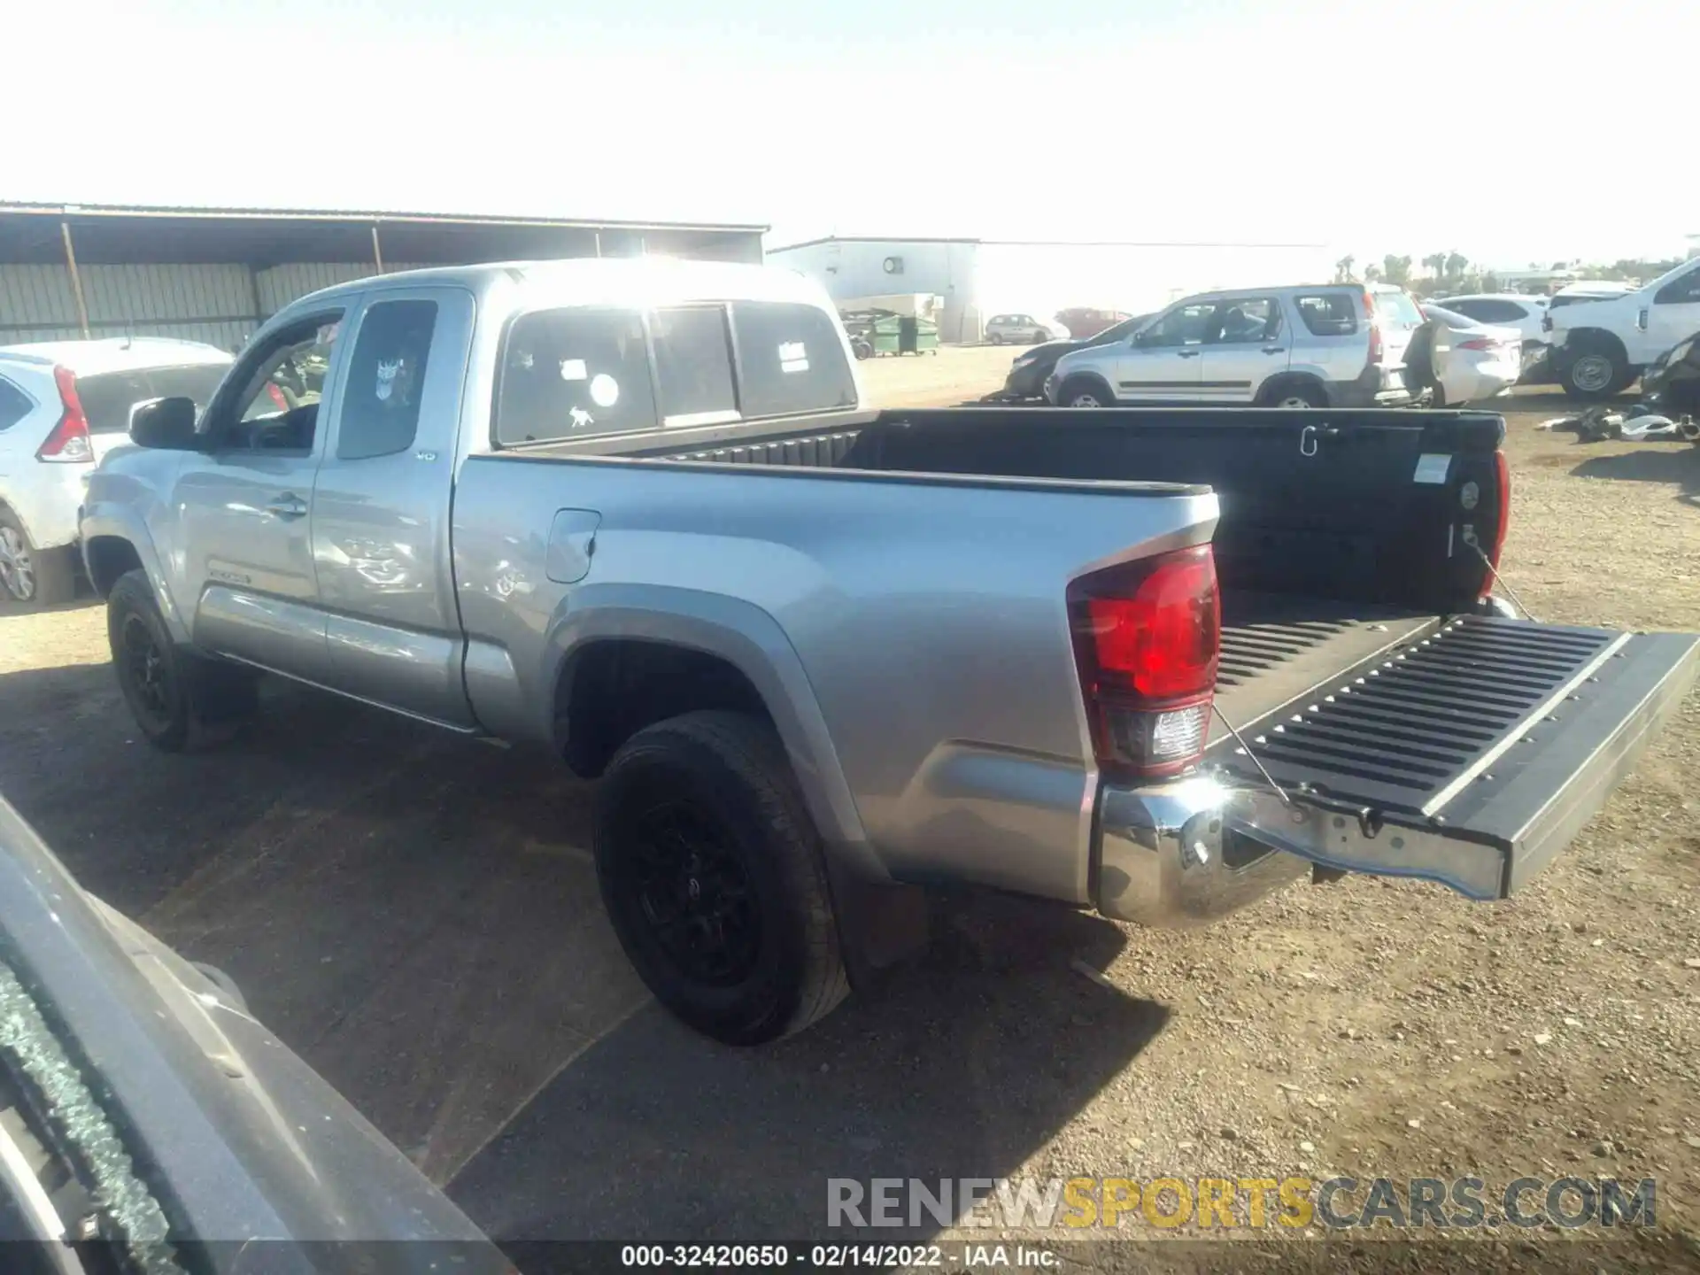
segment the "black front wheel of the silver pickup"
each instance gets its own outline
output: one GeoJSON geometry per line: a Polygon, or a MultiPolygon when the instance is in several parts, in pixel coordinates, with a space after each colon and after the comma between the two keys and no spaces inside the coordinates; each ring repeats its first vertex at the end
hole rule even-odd
{"type": "Polygon", "coordinates": [[[107,644],[119,690],[143,736],[180,753],[250,714],[255,675],[214,663],[172,641],[146,571],[119,576],[107,595],[107,644]]]}

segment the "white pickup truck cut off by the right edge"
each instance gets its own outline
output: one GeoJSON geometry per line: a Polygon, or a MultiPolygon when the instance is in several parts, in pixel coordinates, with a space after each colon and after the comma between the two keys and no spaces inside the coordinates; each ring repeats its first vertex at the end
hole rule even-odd
{"type": "Polygon", "coordinates": [[[1700,260],[1690,260],[1622,296],[1550,306],[1542,326],[1552,371],[1571,398],[1622,393],[1640,369],[1700,332],[1700,260]]]}

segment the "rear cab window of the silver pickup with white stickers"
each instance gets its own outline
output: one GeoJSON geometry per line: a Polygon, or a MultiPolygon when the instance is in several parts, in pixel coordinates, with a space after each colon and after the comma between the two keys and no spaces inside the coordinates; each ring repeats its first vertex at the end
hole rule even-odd
{"type": "Polygon", "coordinates": [[[855,405],[843,340],[816,306],[563,308],[508,326],[493,434],[517,447],[855,405]]]}

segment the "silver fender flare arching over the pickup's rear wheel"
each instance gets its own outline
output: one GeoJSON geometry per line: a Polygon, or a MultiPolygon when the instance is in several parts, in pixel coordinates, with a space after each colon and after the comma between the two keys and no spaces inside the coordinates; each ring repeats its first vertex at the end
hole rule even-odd
{"type": "MultiPolygon", "coordinates": [[[[721,593],[668,585],[585,585],[563,602],[546,634],[546,661],[539,678],[549,695],[539,711],[552,714],[554,688],[570,656],[586,643],[607,638],[670,643],[719,656],[738,668],[762,695],[802,797],[821,840],[845,867],[872,881],[889,874],[867,842],[855,797],[845,779],[802,660],[768,612],[721,593]]],[[[552,716],[542,726],[552,738],[552,716]]]]}

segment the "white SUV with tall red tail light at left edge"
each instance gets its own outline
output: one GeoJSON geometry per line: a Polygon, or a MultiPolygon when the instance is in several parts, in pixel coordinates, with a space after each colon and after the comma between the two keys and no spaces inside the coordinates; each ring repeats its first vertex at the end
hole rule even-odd
{"type": "Polygon", "coordinates": [[[136,406],[204,406],[230,362],[214,345],[158,337],[0,345],[0,597],[71,600],[90,471],[128,444],[136,406]]]}

